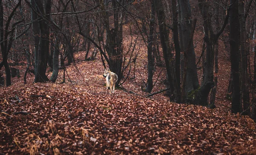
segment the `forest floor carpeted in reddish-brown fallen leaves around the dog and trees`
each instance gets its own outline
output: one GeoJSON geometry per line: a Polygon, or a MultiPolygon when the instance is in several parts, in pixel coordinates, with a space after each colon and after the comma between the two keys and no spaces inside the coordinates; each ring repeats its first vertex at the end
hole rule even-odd
{"type": "MultiPolygon", "coordinates": [[[[136,77],[112,95],[100,57],[68,66],[66,83],[63,71],[56,83],[12,78],[0,88],[0,154],[256,154],[255,123],[231,114],[224,99],[229,68],[220,68],[217,107],[208,109],[170,103],[164,93],[146,98],[145,66],[139,59],[136,77]]],[[[165,88],[165,70],[156,70],[152,92],[165,88]]]]}

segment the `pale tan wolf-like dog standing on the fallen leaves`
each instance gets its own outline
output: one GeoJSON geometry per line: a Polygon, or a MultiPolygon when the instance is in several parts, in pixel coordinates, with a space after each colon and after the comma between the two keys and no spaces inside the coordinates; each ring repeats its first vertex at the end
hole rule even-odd
{"type": "Polygon", "coordinates": [[[105,72],[103,74],[103,77],[106,78],[106,86],[107,86],[107,92],[109,90],[109,93],[111,94],[112,91],[115,93],[115,86],[116,86],[116,81],[118,80],[118,76],[111,72],[109,69],[105,69],[105,72]]]}

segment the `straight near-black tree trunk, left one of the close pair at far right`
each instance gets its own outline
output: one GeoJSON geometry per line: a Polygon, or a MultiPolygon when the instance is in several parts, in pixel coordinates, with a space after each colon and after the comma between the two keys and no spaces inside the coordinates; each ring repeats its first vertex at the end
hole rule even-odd
{"type": "Polygon", "coordinates": [[[239,53],[239,14],[238,0],[230,0],[230,59],[233,75],[233,93],[231,112],[241,112],[241,88],[240,88],[240,53],[239,53]]]}

